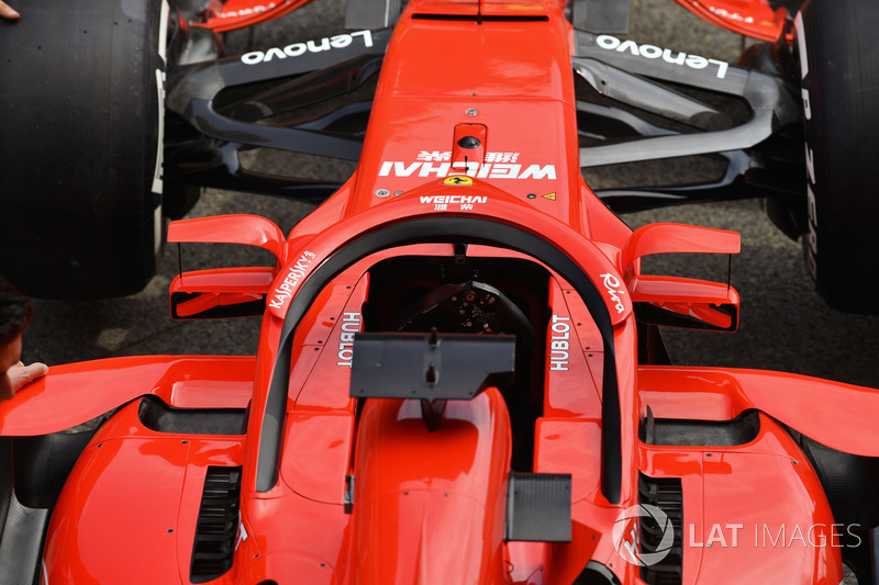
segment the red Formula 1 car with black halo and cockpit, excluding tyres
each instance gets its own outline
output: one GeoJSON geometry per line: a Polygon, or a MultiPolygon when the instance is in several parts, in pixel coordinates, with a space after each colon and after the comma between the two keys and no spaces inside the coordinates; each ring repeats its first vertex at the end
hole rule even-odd
{"type": "MultiPolygon", "coordinates": [[[[877,583],[879,391],[668,364],[658,326],[733,330],[738,296],[644,273],[642,259],[733,255],[738,236],[633,233],[590,191],[582,157],[614,150],[581,150],[578,116],[598,106],[578,103],[571,56],[597,87],[652,90],[589,56],[623,55],[622,41],[567,16],[548,0],[412,1],[393,32],[169,81],[171,111],[237,140],[212,142],[226,166],[199,172],[244,182],[266,179],[234,173],[256,137],[231,113],[256,120],[285,98],[227,101],[223,116],[211,100],[224,83],[296,65],[314,72],[286,89],[308,101],[383,60],[356,172],[290,234],[249,215],[170,225],[170,241],[276,258],[171,284],[175,318],[263,315],[255,357],[56,367],[0,405],[0,580],[836,585],[845,562],[877,583]]],[[[761,103],[785,90],[708,59],[666,63],[761,103]]],[[[669,115],[713,124],[678,103],[669,115]]],[[[354,149],[345,130],[363,113],[262,136],[354,149]]]]}

